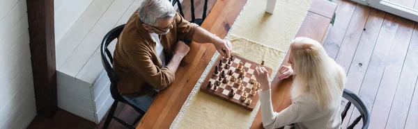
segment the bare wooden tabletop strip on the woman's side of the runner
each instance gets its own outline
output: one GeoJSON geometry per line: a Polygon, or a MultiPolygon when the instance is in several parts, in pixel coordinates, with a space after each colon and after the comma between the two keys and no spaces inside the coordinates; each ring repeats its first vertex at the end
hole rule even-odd
{"type": "MultiPolygon", "coordinates": [[[[302,25],[295,37],[309,37],[318,42],[322,42],[327,33],[327,28],[334,12],[336,10],[336,3],[326,0],[314,0],[309,8],[307,16],[304,18],[302,25]]],[[[343,17],[343,16],[340,16],[343,17]]],[[[288,66],[289,51],[286,53],[281,65],[288,66]]],[[[279,72],[272,80],[272,105],[274,112],[280,112],[291,105],[290,89],[293,80],[290,78],[279,80],[279,72]]],[[[251,128],[263,128],[261,120],[261,109],[258,110],[256,117],[251,125],[251,128]]]]}

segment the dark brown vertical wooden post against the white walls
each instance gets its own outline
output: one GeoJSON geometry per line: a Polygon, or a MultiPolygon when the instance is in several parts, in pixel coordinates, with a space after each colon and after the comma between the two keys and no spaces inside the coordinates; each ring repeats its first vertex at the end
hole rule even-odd
{"type": "Polygon", "coordinates": [[[27,2],[33,87],[38,114],[52,118],[57,107],[54,41],[54,1],[27,2]]]}

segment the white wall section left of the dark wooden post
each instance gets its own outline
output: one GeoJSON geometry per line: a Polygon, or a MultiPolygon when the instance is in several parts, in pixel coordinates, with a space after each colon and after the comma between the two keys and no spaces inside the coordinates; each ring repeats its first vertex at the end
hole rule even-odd
{"type": "Polygon", "coordinates": [[[36,116],[26,0],[0,1],[0,128],[26,128],[36,116]]]}

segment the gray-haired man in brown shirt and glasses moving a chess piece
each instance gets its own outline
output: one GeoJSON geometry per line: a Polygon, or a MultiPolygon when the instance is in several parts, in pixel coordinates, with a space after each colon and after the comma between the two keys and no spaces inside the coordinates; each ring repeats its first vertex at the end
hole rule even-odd
{"type": "Polygon", "coordinates": [[[168,0],[145,0],[125,24],[114,52],[118,91],[127,101],[146,111],[155,89],[173,82],[189,51],[189,46],[178,42],[180,38],[210,42],[225,58],[232,50],[231,42],[183,19],[168,0]]]}

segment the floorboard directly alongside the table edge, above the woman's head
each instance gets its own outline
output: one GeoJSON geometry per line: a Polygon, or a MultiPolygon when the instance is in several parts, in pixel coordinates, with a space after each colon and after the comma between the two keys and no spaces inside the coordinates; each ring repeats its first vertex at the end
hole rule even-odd
{"type": "MultiPolygon", "coordinates": [[[[332,26],[325,43],[323,44],[325,51],[331,58],[335,59],[339,51],[341,42],[343,42],[344,35],[350,24],[350,19],[353,17],[357,3],[353,1],[334,1],[339,5],[336,8],[336,17],[334,26],[332,26]]],[[[322,9],[322,8],[321,8],[322,9]]]]}

